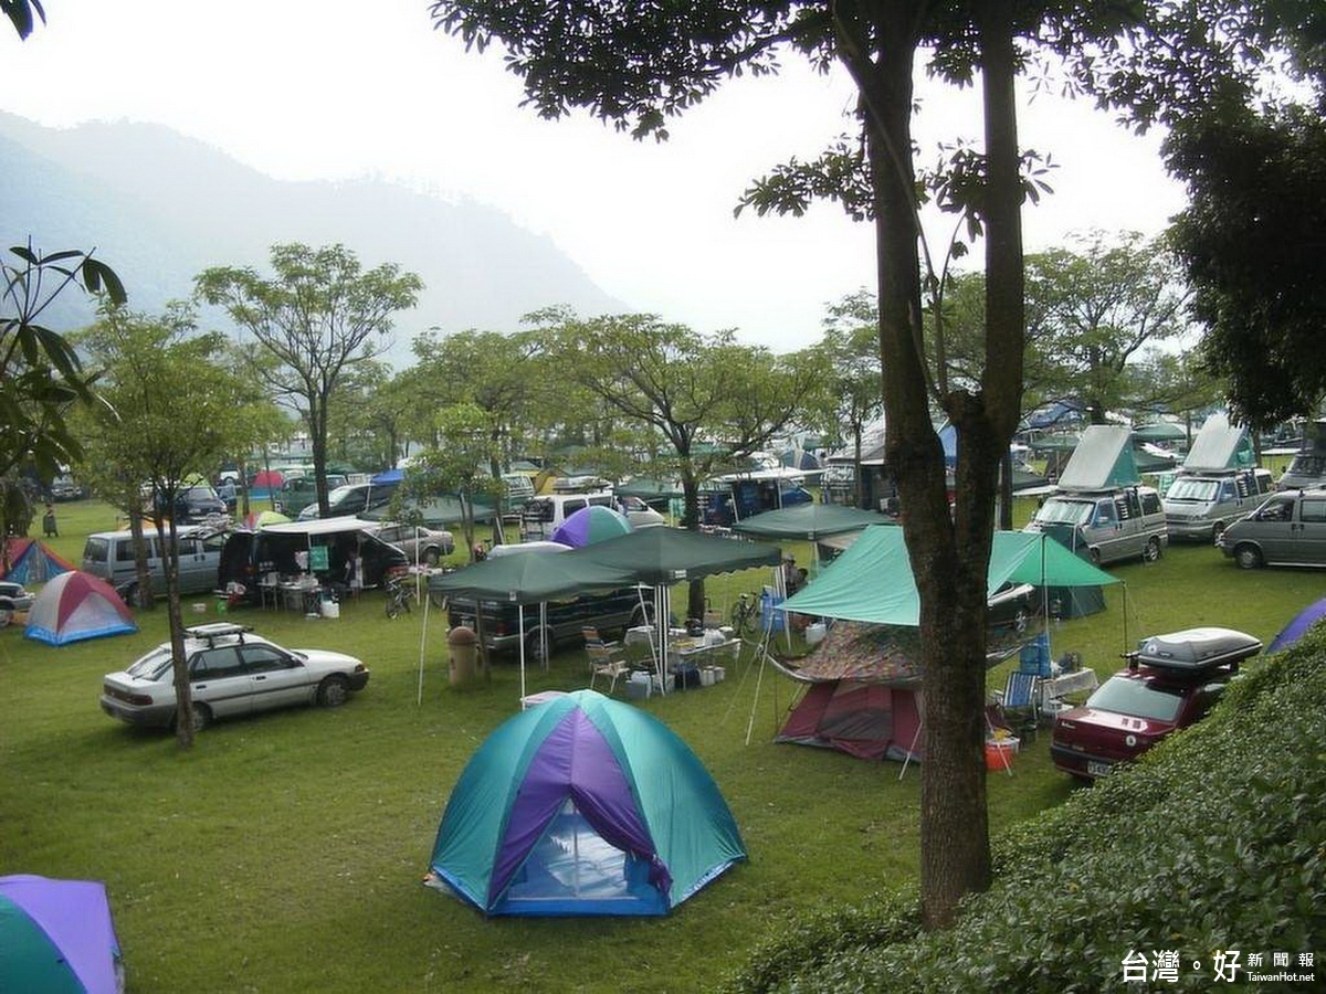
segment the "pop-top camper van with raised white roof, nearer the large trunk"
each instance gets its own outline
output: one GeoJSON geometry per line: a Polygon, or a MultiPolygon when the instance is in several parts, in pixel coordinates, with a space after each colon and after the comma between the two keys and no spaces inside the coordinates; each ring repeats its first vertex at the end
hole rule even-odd
{"type": "Polygon", "coordinates": [[[1128,428],[1089,427],[1024,530],[1050,534],[1097,565],[1159,559],[1170,543],[1164,506],[1155,488],[1140,484],[1130,436],[1128,428]]]}

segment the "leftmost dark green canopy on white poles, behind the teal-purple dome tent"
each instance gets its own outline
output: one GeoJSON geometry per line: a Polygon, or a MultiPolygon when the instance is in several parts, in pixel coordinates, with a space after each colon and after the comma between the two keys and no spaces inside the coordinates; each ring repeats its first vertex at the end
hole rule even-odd
{"type": "MultiPolygon", "coordinates": [[[[593,547],[593,546],[586,546],[593,547]]],[[[587,594],[618,590],[635,582],[629,570],[575,559],[570,553],[532,550],[471,563],[455,573],[428,579],[428,594],[465,594],[479,600],[503,600],[520,606],[520,697],[525,698],[525,606],[587,594]]],[[[476,606],[477,610],[477,606],[476,606]]],[[[546,628],[544,628],[546,630],[546,628]]],[[[544,659],[548,652],[542,653],[544,659]]],[[[420,690],[423,671],[420,669],[420,690]]]]}

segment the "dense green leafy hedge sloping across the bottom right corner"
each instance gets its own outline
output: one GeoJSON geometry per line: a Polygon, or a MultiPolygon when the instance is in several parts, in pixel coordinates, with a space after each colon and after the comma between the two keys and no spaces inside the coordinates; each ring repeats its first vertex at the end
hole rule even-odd
{"type": "Polygon", "coordinates": [[[952,929],[922,932],[915,888],[880,895],[793,922],[728,989],[1205,991],[1233,950],[1241,989],[1323,989],[1326,962],[1299,954],[1326,956],[1326,634],[1250,671],[1205,721],[994,839],[994,885],[952,929]],[[1252,982],[1249,954],[1315,982],[1252,982]]]}

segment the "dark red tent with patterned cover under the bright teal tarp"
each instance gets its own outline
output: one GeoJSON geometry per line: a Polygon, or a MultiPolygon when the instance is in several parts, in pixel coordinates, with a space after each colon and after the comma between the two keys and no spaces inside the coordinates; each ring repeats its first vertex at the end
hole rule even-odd
{"type": "Polygon", "coordinates": [[[861,759],[919,758],[919,659],[914,628],[838,622],[800,669],[784,669],[809,687],[774,741],[861,759]]]}

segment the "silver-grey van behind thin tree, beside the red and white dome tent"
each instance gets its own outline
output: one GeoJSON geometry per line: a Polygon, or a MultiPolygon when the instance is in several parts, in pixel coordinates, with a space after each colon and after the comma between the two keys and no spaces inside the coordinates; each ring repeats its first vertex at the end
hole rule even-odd
{"type": "MultiPolygon", "coordinates": [[[[166,533],[168,537],[170,533],[166,533]]],[[[221,563],[225,531],[206,525],[180,525],[179,529],[179,592],[202,594],[216,590],[216,570],[221,563]]],[[[147,571],[152,580],[152,594],[166,592],[166,566],[162,559],[162,538],[156,529],[143,529],[147,543],[147,571]]],[[[138,563],[134,559],[134,537],[123,531],[97,531],[88,535],[84,545],[84,573],[101,577],[113,586],[126,603],[138,592],[138,563]]]]}

